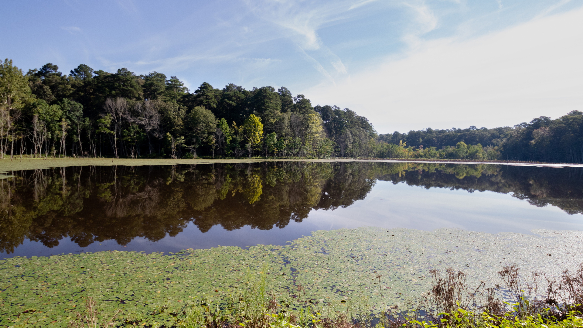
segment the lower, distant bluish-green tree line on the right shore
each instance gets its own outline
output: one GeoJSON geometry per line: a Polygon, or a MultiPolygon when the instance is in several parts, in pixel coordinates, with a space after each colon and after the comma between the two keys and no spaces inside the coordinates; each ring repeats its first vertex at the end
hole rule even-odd
{"type": "Polygon", "coordinates": [[[583,163],[583,113],[541,116],[514,127],[427,128],[377,137],[381,158],[503,159],[583,163]]]}

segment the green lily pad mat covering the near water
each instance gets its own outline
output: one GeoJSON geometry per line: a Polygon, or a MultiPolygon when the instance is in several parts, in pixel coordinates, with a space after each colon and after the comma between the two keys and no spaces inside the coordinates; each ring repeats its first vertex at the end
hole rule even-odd
{"type": "Polygon", "coordinates": [[[150,323],[164,322],[193,296],[228,299],[245,288],[246,273],[258,275],[265,268],[268,287],[282,297],[301,284],[312,302],[364,295],[378,310],[427,291],[431,268],[452,267],[490,284],[498,282],[497,271],[506,264],[557,276],[576,270],[583,232],[533,232],[539,236],[362,227],[315,231],[289,246],[247,250],[13,257],[0,261],[0,326],[66,327],[83,310],[86,296],[106,314],[122,309],[150,323]],[[382,274],[380,284],[374,271],[382,274]]]}

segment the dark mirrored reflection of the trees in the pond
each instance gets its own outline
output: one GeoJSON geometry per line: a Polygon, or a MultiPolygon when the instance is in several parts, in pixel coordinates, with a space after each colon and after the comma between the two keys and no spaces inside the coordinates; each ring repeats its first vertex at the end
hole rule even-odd
{"type": "Polygon", "coordinates": [[[583,213],[583,169],[382,162],[269,162],[175,166],[78,166],[11,173],[0,180],[0,252],[24,239],[80,247],[176,236],[190,222],[269,230],[312,209],[364,199],[377,180],[512,193],[536,206],[583,213]]]}

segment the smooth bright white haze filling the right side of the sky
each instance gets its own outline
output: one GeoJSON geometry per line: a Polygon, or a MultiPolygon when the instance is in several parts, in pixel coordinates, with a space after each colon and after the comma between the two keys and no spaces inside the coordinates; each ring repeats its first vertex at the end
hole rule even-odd
{"type": "Polygon", "coordinates": [[[497,127],[583,111],[583,9],[414,50],[305,90],[359,109],[377,131],[497,127]]]}

